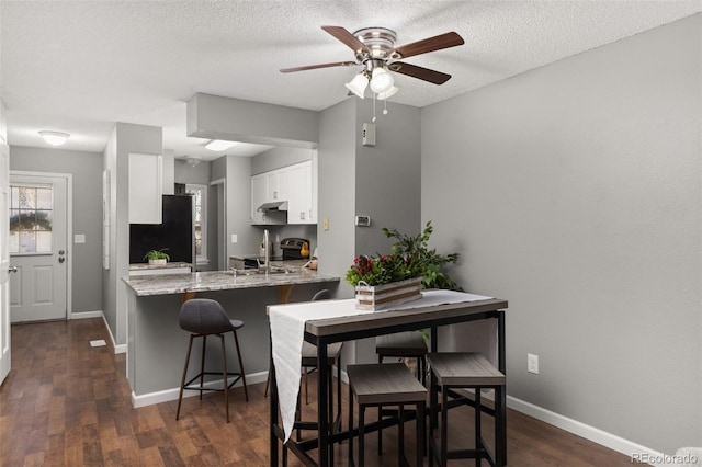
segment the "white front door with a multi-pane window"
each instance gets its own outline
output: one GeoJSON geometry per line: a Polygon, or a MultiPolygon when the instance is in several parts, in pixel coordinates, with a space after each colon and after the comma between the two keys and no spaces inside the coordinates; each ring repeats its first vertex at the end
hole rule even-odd
{"type": "Polygon", "coordinates": [[[66,176],[10,174],[12,322],[66,319],[66,176]]]}

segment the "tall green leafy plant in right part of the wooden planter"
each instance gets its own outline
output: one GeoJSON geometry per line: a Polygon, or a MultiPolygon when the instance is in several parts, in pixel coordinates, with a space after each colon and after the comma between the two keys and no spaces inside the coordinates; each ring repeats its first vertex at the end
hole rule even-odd
{"type": "Polygon", "coordinates": [[[440,254],[435,249],[429,248],[432,232],[431,220],[417,236],[401,234],[395,228],[383,228],[385,237],[397,240],[392,247],[393,254],[408,260],[409,277],[421,276],[423,288],[462,291],[463,288],[444,271],[448,264],[458,261],[458,253],[440,254]]]}

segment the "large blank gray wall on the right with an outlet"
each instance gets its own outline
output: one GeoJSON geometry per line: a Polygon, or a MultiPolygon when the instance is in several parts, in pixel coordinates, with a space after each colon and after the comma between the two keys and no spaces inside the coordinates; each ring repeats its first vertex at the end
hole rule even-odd
{"type": "Polygon", "coordinates": [[[422,218],[509,300],[509,395],[666,453],[702,440],[700,21],[422,111],[422,218]]]}

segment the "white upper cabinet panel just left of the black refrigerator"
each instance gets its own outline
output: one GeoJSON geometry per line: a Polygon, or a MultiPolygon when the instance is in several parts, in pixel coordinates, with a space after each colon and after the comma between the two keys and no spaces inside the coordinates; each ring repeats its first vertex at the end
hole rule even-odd
{"type": "Polygon", "coordinates": [[[129,153],[129,224],[161,224],[162,158],[129,153]]]}

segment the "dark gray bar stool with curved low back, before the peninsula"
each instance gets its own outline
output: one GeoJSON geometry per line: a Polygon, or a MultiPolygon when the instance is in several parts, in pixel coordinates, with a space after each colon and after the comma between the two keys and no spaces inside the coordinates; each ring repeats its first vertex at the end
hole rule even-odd
{"type": "Polygon", "coordinates": [[[202,392],[204,390],[214,390],[224,392],[224,403],[227,413],[227,423],[229,423],[229,389],[240,379],[244,385],[244,395],[246,401],[249,401],[249,392],[246,387],[246,375],[244,372],[244,363],[241,362],[241,351],[239,350],[239,339],[237,338],[237,330],[244,327],[244,321],[237,319],[229,319],[226,311],[219,305],[218,301],[208,298],[192,298],[185,301],[180,308],[179,323],[181,329],[190,332],[190,342],[188,344],[188,355],[185,356],[185,368],[183,369],[183,377],[180,384],[180,391],[178,394],[178,410],[176,411],[176,420],[180,418],[180,407],[183,401],[183,390],[199,390],[200,400],[202,400],[202,392]],[[234,343],[237,349],[237,357],[239,358],[239,373],[233,373],[227,371],[227,353],[225,349],[224,334],[227,332],[234,333],[234,343]],[[222,343],[222,372],[205,372],[205,350],[208,335],[217,335],[222,343]],[[188,365],[190,363],[190,353],[193,348],[193,340],[195,338],[202,338],[202,358],[200,362],[200,373],[190,380],[185,381],[188,375],[188,365]],[[220,375],[223,380],[222,388],[205,387],[204,377],[206,375],[220,375]],[[230,384],[227,384],[229,376],[235,376],[230,384]],[[200,379],[200,384],[193,385],[193,383],[200,379]]]}

